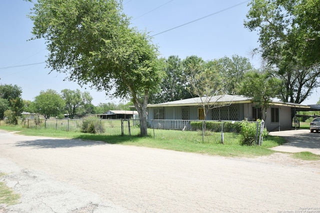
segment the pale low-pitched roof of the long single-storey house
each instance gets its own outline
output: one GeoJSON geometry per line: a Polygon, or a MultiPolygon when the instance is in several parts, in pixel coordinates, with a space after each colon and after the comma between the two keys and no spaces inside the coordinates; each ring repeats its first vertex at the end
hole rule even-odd
{"type": "MultiPolygon", "coordinates": [[[[201,103],[226,105],[226,104],[239,104],[239,103],[252,103],[252,98],[239,96],[239,95],[216,95],[216,96],[204,96],[182,99],[177,101],[170,101],[159,104],[148,104],[147,107],[173,107],[173,106],[199,106],[201,103]]],[[[272,100],[272,105],[277,106],[289,106],[296,108],[303,108],[304,110],[312,110],[308,105],[296,104],[296,103],[283,103],[279,100],[272,100]]],[[[319,107],[320,108],[320,107],[319,107]]]]}

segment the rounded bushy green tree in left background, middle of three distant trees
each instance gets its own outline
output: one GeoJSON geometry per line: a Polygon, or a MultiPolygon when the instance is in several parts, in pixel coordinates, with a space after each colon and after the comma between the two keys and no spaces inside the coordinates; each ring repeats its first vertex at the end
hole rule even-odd
{"type": "Polygon", "coordinates": [[[37,113],[40,113],[44,118],[50,116],[58,116],[64,110],[64,100],[53,89],[40,91],[40,94],[34,98],[34,107],[37,113]]]}

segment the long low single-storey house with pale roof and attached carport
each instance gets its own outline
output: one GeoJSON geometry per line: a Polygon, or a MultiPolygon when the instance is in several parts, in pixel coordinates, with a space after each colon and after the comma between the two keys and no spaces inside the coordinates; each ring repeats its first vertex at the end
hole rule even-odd
{"type": "MultiPolygon", "coordinates": [[[[255,121],[261,119],[261,108],[257,108],[251,98],[235,95],[202,97],[210,100],[214,108],[209,109],[204,118],[200,97],[148,104],[148,119],[163,120],[228,120],[255,121]]],[[[205,101],[203,101],[205,103],[205,101]]],[[[266,110],[265,125],[268,131],[292,128],[292,118],[297,111],[318,110],[308,105],[273,101],[266,110]]]]}

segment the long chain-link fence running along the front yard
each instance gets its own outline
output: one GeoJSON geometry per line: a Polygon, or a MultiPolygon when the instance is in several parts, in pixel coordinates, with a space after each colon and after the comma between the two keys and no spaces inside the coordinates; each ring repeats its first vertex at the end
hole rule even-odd
{"type": "MultiPolygon", "coordinates": [[[[259,144],[259,122],[245,122],[255,126],[255,142],[259,144]]],[[[227,143],[238,139],[243,121],[147,120],[146,123],[148,135],[154,138],[166,138],[171,134],[194,143],[227,143]]],[[[22,121],[22,125],[103,135],[131,136],[140,133],[140,120],[132,119],[34,119],[22,121]]]]}

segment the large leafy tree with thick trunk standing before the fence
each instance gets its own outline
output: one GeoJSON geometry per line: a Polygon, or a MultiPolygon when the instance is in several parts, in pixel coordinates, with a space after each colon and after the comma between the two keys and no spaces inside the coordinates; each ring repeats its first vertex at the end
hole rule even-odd
{"type": "Polygon", "coordinates": [[[118,0],[37,0],[29,15],[34,38],[46,40],[51,70],[111,95],[129,97],[147,135],[149,91],[161,79],[156,47],[129,27],[118,0]]]}

